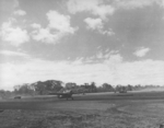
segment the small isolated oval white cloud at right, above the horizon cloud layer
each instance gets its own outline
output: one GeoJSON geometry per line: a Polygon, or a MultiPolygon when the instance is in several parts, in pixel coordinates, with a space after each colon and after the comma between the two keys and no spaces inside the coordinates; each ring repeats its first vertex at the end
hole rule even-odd
{"type": "Polygon", "coordinates": [[[136,55],[137,57],[144,57],[148,51],[150,51],[150,48],[141,47],[136,53],[133,53],[133,55],[136,55]]]}

